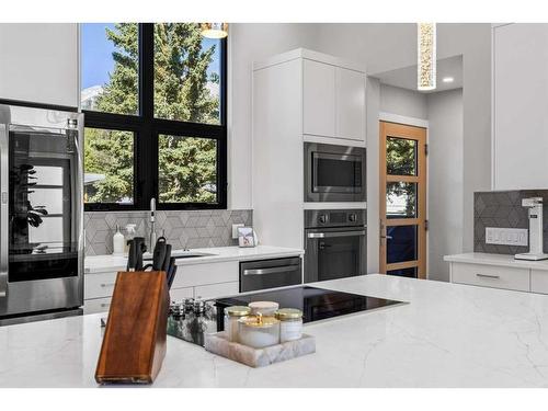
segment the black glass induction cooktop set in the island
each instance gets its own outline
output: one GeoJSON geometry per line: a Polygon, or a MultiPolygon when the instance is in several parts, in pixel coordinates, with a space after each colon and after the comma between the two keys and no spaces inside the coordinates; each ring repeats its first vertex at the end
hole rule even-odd
{"type": "Polygon", "coordinates": [[[402,301],[392,299],[362,296],[304,285],[217,299],[217,321],[220,322],[224,308],[247,306],[252,301],[275,301],[279,304],[281,308],[298,308],[302,311],[304,322],[319,321],[353,312],[403,304],[402,301]]]}

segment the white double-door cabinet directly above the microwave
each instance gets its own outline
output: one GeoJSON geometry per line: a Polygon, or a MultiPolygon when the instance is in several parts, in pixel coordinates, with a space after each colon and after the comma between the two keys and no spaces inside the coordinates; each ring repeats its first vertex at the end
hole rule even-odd
{"type": "Polygon", "coordinates": [[[302,133],[365,141],[365,73],[304,59],[302,133]]]}

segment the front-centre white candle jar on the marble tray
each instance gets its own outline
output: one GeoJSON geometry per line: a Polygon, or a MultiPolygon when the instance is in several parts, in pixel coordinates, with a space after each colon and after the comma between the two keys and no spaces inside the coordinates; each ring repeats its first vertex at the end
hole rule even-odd
{"type": "Polygon", "coordinates": [[[279,321],[274,317],[249,316],[238,322],[240,344],[253,349],[279,344],[279,321]]]}

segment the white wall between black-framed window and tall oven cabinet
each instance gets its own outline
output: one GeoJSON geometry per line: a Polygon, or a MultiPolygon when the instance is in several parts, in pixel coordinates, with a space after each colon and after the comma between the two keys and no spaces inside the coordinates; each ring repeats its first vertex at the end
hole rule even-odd
{"type": "Polygon", "coordinates": [[[316,49],[315,24],[233,23],[229,35],[228,207],[251,208],[252,65],[265,57],[305,47],[316,49]]]}

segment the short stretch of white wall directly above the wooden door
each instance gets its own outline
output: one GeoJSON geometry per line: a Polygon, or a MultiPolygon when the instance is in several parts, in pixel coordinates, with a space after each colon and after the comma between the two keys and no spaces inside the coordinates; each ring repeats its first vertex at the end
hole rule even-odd
{"type": "Polygon", "coordinates": [[[427,119],[426,94],[380,84],[380,112],[427,119]]]}

